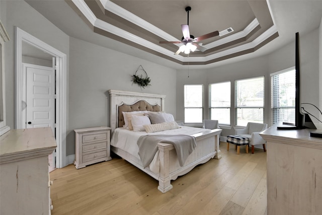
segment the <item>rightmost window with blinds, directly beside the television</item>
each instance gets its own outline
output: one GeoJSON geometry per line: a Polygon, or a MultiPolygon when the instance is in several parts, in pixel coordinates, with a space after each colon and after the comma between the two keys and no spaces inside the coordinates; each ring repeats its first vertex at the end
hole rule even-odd
{"type": "Polygon", "coordinates": [[[295,69],[271,75],[272,123],[295,123],[295,69]]]}

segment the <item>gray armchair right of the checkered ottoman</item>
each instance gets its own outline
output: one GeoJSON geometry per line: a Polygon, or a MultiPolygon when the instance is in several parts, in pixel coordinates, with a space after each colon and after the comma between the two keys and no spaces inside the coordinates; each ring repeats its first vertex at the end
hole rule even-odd
{"type": "Polygon", "coordinates": [[[267,124],[265,123],[249,122],[246,128],[235,129],[235,134],[249,138],[249,145],[252,146],[252,154],[254,154],[254,146],[260,144],[263,145],[264,152],[266,152],[266,141],[260,136],[260,132],[266,128],[267,124]]]}

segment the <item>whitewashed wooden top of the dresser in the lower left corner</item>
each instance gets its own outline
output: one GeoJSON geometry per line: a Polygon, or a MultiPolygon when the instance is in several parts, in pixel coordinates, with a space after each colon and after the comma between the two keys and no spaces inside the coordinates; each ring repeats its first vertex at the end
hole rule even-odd
{"type": "Polygon", "coordinates": [[[0,136],[0,162],[49,155],[56,146],[50,127],[12,129],[0,136]]]}

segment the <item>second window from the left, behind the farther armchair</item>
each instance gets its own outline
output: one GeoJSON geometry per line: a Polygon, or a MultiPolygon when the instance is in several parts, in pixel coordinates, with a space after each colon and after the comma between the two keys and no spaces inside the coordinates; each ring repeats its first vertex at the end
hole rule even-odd
{"type": "Polygon", "coordinates": [[[209,118],[230,125],[230,82],[209,85],[209,118]]]}

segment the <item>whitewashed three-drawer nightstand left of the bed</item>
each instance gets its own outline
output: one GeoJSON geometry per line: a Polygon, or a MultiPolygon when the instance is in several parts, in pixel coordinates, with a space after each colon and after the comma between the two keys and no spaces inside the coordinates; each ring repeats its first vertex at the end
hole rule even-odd
{"type": "Polygon", "coordinates": [[[112,160],[110,153],[110,127],[75,129],[76,169],[101,161],[112,160]]]}

